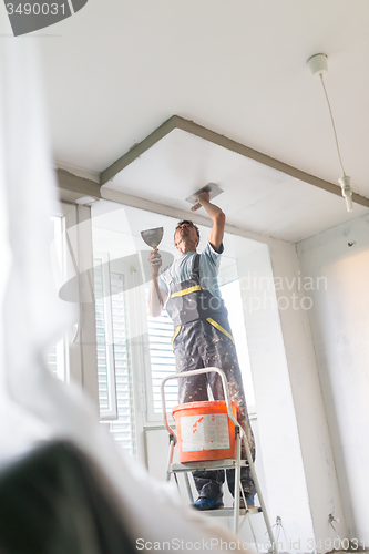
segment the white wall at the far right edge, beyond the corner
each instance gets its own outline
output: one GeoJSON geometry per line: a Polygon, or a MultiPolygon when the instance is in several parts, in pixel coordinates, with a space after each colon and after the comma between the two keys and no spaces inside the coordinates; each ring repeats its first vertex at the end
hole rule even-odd
{"type": "Polygon", "coordinates": [[[304,275],[327,279],[309,317],[349,538],[368,546],[369,216],[301,242],[298,255],[304,275]]]}

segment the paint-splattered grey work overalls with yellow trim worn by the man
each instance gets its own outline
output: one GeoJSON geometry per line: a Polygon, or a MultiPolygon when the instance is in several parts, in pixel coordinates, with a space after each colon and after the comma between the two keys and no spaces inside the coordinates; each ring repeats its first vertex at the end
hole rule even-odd
{"type": "MultiPolygon", "coordinates": [[[[170,299],[166,310],[174,322],[172,345],[177,372],[192,369],[217,367],[225,372],[230,399],[239,407],[238,421],[246,432],[248,445],[255,460],[255,440],[247,414],[242,375],[224,301],[202,289],[199,278],[199,254],[194,260],[189,280],[175,284],[170,269],[166,281],[170,299]]],[[[205,373],[178,379],[178,401],[201,402],[208,400],[209,387],[214,400],[224,400],[221,377],[205,373]]],[[[243,447],[242,459],[246,460],[243,447]]],[[[227,483],[234,494],[235,472],[227,470],[227,483]]],[[[199,497],[219,500],[223,496],[224,470],[195,471],[193,473],[199,497]]],[[[245,495],[255,494],[255,485],[248,466],[242,468],[242,486],[245,495]]]]}

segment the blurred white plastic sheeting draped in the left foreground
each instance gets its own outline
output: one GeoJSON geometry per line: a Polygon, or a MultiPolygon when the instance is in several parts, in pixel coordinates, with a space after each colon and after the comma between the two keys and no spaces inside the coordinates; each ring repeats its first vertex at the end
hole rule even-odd
{"type": "Polygon", "coordinates": [[[150,480],[140,463],[122,458],[82,393],[59,382],[44,366],[42,352],[72,325],[73,314],[59,300],[51,271],[49,217],[57,194],[34,43],[2,42],[0,464],[25,455],[40,441],[71,440],[98,465],[134,542],[198,546],[205,541],[217,552],[221,540],[235,536],[183,505],[173,485],[150,480]]]}

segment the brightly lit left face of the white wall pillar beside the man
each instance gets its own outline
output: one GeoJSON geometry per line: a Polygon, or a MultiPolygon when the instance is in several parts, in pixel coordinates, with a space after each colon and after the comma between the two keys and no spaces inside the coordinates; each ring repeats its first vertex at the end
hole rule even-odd
{"type": "MultiPolygon", "coordinates": [[[[314,531],[278,309],[268,286],[273,284],[268,247],[255,243],[238,260],[238,273],[265,469],[265,500],[271,524],[280,516],[288,542],[301,541],[305,546],[314,531]]],[[[297,551],[305,552],[304,546],[297,551]]],[[[289,544],[285,550],[291,550],[289,544]]]]}

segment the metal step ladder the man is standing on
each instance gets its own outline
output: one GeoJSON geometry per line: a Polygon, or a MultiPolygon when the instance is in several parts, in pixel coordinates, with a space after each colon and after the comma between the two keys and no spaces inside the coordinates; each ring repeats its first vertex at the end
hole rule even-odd
{"type": "Polygon", "coordinates": [[[227,406],[227,416],[228,416],[229,420],[233,422],[233,424],[235,425],[235,431],[236,431],[236,458],[232,459],[232,460],[209,460],[209,461],[202,461],[202,462],[173,463],[174,447],[177,443],[177,437],[167,421],[166,402],[165,402],[165,384],[167,381],[170,381],[172,379],[183,378],[183,375],[181,375],[181,373],[173,373],[171,376],[167,376],[165,379],[163,379],[162,384],[161,384],[164,425],[170,433],[170,453],[168,453],[168,462],[167,462],[167,470],[166,470],[166,481],[170,481],[172,475],[174,475],[176,479],[176,473],[183,473],[184,478],[185,478],[185,483],[186,483],[189,500],[191,500],[191,502],[193,502],[193,494],[192,494],[192,489],[191,489],[191,484],[189,484],[189,480],[188,480],[188,472],[193,472],[196,470],[234,469],[235,470],[235,494],[234,494],[234,497],[238,499],[239,492],[240,493],[243,492],[242,486],[240,486],[240,468],[243,465],[246,465],[246,463],[248,462],[248,465],[249,465],[250,472],[252,472],[252,476],[254,480],[254,484],[256,488],[256,492],[257,492],[257,495],[259,499],[260,507],[242,509],[242,507],[239,507],[239,502],[234,502],[234,507],[222,507],[218,510],[204,510],[204,511],[202,511],[202,513],[205,513],[205,514],[208,514],[212,516],[232,516],[233,515],[233,530],[235,533],[237,533],[239,530],[239,516],[240,515],[246,516],[246,515],[254,515],[257,513],[263,513],[265,525],[266,525],[267,533],[268,533],[269,541],[270,541],[269,552],[273,552],[273,554],[278,554],[277,545],[276,545],[276,542],[275,542],[275,538],[273,535],[273,530],[271,530],[270,522],[269,522],[269,517],[268,517],[266,506],[264,503],[263,493],[262,493],[260,485],[259,485],[257,474],[255,471],[255,465],[253,462],[252,453],[250,453],[250,450],[248,447],[246,433],[245,433],[244,429],[239,425],[238,421],[235,419],[235,417],[232,412],[229,391],[228,391],[228,386],[227,386],[227,380],[226,380],[225,373],[222,371],[222,369],[211,367],[211,368],[195,369],[193,371],[186,371],[185,376],[192,377],[192,376],[196,376],[199,373],[209,373],[212,371],[215,371],[222,378],[224,398],[225,398],[225,402],[227,406]],[[240,459],[242,439],[244,439],[247,462],[245,460],[240,459]]]}

